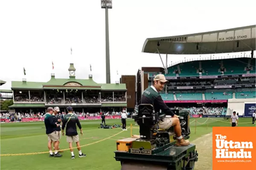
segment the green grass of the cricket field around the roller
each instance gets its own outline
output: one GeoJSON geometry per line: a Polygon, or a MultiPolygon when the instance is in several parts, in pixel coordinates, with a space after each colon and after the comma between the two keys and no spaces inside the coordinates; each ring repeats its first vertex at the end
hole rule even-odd
{"type": "MultiPolygon", "coordinates": [[[[230,126],[230,120],[223,118],[196,118],[190,119],[190,141],[212,132],[213,126],[230,126]],[[196,128],[195,128],[196,126],[196,128]]],[[[133,119],[127,120],[127,127],[133,124],[133,134],[139,134],[138,126],[134,125],[133,119]]],[[[64,151],[61,158],[49,158],[49,153],[22,155],[22,156],[1,156],[1,169],[3,170],[119,170],[120,163],[115,161],[114,151],[116,150],[116,140],[130,137],[130,129],[122,131],[121,128],[99,129],[100,120],[82,121],[84,135],[80,137],[82,152],[87,154],[84,158],[78,157],[78,150],[74,153],[76,159],[71,159],[69,150],[64,151]],[[121,132],[122,131],[122,132],[121,132]],[[121,133],[119,133],[121,132],[121,133]],[[116,136],[113,136],[117,134],[116,136]],[[109,138],[110,136],[113,136],[109,138]],[[106,139],[108,138],[108,139],[106,139]],[[101,142],[99,140],[105,139],[101,142]],[[95,144],[90,144],[97,142],[95,144]]],[[[107,125],[120,124],[119,119],[106,120],[107,125]]],[[[251,118],[240,118],[239,126],[255,126],[251,124],[251,118]]],[[[45,134],[44,122],[19,122],[1,124],[0,148],[2,154],[13,153],[37,153],[48,151],[47,135],[45,134]]],[[[75,144],[73,144],[75,147],[75,144]]],[[[203,147],[203,146],[196,146],[203,147]]],[[[60,142],[61,149],[67,149],[66,136],[62,136],[60,142]]],[[[200,156],[200,153],[198,153],[200,156]]],[[[201,161],[199,157],[198,161],[201,161]]]]}

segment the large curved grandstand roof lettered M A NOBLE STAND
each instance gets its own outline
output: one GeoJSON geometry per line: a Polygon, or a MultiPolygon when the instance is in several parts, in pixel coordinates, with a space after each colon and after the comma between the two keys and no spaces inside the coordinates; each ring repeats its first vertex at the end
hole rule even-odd
{"type": "Polygon", "coordinates": [[[197,34],[147,38],[142,52],[215,54],[256,50],[256,25],[197,34]]]}

